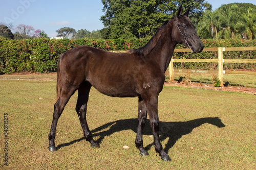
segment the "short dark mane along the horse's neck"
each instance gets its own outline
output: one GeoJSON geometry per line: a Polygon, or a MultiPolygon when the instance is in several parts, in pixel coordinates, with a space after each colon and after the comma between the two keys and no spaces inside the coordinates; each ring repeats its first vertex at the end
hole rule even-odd
{"type": "Polygon", "coordinates": [[[166,25],[169,20],[162,23],[162,25],[158,28],[157,32],[153,35],[150,41],[143,47],[140,47],[136,50],[130,50],[128,53],[134,53],[136,56],[146,56],[148,55],[153,48],[156,46],[159,38],[161,37],[162,33],[165,31],[166,25]]]}

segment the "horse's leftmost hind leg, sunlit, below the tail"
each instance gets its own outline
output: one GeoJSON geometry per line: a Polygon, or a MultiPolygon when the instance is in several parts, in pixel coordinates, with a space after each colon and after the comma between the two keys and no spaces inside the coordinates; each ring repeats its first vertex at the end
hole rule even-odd
{"type": "Polygon", "coordinates": [[[57,127],[57,122],[58,119],[62,113],[62,111],[64,110],[66,104],[68,103],[70,97],[74,94],[74,92],[76,91],[76,88],[62,88],[62,91],[60,92],[59,95],[59,99],[57,100],[57,102],[54,105],[54,112],[53,112],[53,119],[52,119],[52,126],[51,126],[51,130],[50,133],[48,135],[49,137],[49,151],[57,151],[56,147],[55,147],[55,133],[56,133],[56,127],[57,127]]]}

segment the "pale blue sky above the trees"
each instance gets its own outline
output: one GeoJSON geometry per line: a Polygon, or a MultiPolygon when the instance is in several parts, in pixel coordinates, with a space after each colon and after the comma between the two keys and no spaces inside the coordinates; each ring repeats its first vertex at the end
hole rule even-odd
{"type": "MultiPolygon", "coordinates": [[[[251,3],[255,0],[208,0],[212,10],[230,3],[251,3]]],[[[0,0],[0,22],[20,23],[45,31],[49,37],[56,37],[56,30],[71,27],[76,31],[86,29],[97,31],[104,28],[100,17],[104,15],[101,0],[0,0]]],[[[12,30],[14,33],[15,31],[12,30]]]]}

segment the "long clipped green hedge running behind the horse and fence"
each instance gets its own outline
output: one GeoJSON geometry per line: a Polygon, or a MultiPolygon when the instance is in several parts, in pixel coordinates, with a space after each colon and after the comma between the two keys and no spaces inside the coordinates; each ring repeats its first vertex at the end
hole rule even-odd
{"type": "MultiPolygon", "coordinates": [[[[79,45],[89,45],[106,51],[131,50],[144,46],[149,38],[143,39],[0,39],[0,72],[55,72],[59,56],[79,45]]],[[[256,40],[202,40],[205,47],[239,47],[256,46],[256,40]]],[[[177,48],[184,48],[178,45],[177,48]]],[[[225,59],[256,59],[255,51],[224,52],[225,59]]],[[[200,54],[175,53],[174,58],[218,58],[218,52],[202,52],[200,54]]],[[[215,69],[216,63],[175,63],[175,68],[215,69]]],[[[224,69],[255,69],[255,64],[224,64],[224,69]]]]}

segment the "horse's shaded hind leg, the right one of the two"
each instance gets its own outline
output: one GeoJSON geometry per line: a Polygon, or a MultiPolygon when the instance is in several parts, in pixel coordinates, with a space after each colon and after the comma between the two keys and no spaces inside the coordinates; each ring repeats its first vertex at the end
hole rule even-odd
{"type": "Polygon", "coordinates": [[[91,143],[91,147],[99,148],[98,143],[92,137],[92,133],[88,127],[86,120],[87,102],[89,99],[89,92],[91,87],[92,85],[89,82],[84,82],[84,84],[82,84],[80,88],[78,88],[76,112],[80,119],[80,124],[82,126],[84,137],[86,137],[86,140],[91,143]]]}

